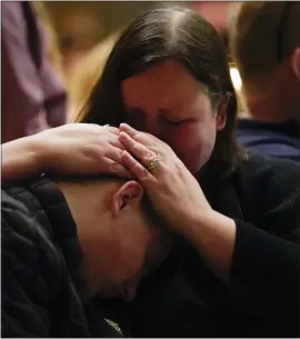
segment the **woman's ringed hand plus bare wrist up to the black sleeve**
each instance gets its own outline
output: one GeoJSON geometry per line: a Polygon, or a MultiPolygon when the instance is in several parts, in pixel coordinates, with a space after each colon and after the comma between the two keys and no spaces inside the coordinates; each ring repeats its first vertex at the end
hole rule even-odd
{"type": "Polygon", "coordinates": [[[123,123],[120,130],[120,141],[138,159],[123,151],[123,163],[144,187],[154,208],[227,282],[236,243],[234,220],[212,210],[198,181],[169,146],[123,123]],[[157,154],[161,161],[151,160],[157,154]]]}

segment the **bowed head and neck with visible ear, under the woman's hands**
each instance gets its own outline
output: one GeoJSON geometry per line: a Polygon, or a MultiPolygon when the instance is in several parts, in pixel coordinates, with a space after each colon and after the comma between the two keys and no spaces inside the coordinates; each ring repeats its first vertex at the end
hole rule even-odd
{"type": "Polygon", "coordinates": [[[77,223],[91,293],[132,299],[141,278],[172,247],[143,189],[114,177],[60,181],[77,223]]]}

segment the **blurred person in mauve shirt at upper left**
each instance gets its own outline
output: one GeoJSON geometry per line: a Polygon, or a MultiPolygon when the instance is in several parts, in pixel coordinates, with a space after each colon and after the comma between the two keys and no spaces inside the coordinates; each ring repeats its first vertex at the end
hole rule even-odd
{"type": "Polygon", "coordinates": [[[4,1],[1,8],[1,136],[7,142],[63,124],[67,98],[32,4],[4,1]]]}

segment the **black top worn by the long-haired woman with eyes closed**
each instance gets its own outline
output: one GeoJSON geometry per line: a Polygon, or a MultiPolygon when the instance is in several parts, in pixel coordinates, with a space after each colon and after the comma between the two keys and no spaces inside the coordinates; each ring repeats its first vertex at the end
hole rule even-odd
{"type": "Polygon", "coordinates": [[[237,223],[229,286],[182,243],[116,317],[134,337],[298,337],[300,166],[254,156],[230,180],[201,186],[237,223]]]}

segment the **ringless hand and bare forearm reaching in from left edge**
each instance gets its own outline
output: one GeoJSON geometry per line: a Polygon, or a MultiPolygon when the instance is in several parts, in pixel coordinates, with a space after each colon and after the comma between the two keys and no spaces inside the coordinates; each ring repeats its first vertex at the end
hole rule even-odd
{"type": "Polygon", "coordinates": [[[2,180],[51,171],[131,178],[122,164],[123,149],[118,128],[68,123],[2,144],[2,180]]]}

